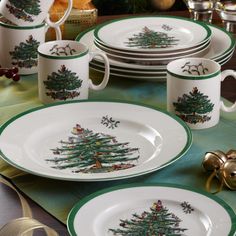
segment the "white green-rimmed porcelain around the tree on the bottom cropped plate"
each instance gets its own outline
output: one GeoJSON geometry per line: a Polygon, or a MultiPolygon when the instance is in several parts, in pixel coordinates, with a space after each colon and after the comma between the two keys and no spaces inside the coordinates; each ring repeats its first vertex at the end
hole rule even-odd
{"type": "Polygon", "coordinates": [[[109,229],[122,229],[120,220],[130,220],[132,214],[151,212],[153,204],[161,201],[161,206],[166,207],[168,213],[180,219],[178,227],[186,229],[178,235],[232,235],[229,234],[232,210],[228,210],[223,201],[218,202],[204,192],[172,186],[118,186],[89,196],[70,212],[67,220],[69,232],[72,236],[114,236],[116,234],[109,229]],[[183,204],[188,205],[189,211],[183,204]]]}

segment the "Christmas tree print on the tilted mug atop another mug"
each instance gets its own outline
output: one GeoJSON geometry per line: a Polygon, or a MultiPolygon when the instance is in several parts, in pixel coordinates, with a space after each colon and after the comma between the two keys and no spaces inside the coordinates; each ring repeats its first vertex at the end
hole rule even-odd
{"type": "Polygon", "coordinates": [[[9,12],[23,21],[33,22],[32,16],[41,13],[39,0],[9,0],[6,5],[9,12]]]}

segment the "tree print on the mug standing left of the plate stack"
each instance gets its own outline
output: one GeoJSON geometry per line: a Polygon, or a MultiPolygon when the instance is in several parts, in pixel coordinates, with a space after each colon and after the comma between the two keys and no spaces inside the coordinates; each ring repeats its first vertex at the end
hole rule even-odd
{"type": "Polygon", "coordinates": [[[57,72],[53,72],[43,82],[48,90],[46,95],[52,99],[66,100],[80,95],[77,90],[82,86],[82,80],[75,72],[70,71],[65,65],[62,65],[57,72]]]}

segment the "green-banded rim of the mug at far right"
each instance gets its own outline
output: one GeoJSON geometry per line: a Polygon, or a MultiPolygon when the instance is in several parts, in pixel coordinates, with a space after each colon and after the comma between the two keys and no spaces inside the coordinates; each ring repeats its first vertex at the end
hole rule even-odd
{"type": "Polygon", "coordinates": [[[217,75],[219,75],[221,73],[221,66],[215,62],[215,61],[212,61],[210,59],[206,59],[206,58],[189,58],[189,59],[199,59],[201,61],[211,61],[211,63],[215,64],[218,69],[216,70],[216,72],[214,73],[210,73],[210,74],[207,74],[207,75],[183,75],[183,74],[177,74],[175,72],[172,72],[171,71],[171,67],[173,68],[176,68],[176,66],[174,66],[173,64],[176,63],[177,61],[186,61],[188,58],[181,58],[181,59],[177,59],[177,60],[174,60],[172,62],[170,62],[168,65],[167,65],[167,68],[166,68],[166,71],[167,71],[167,74],[170,74],[172,76],[175,76],[179,79],[186,79],[186,80],[203,80],[203,79],[210,79],[212,77],[215,77],[217,75]]]}

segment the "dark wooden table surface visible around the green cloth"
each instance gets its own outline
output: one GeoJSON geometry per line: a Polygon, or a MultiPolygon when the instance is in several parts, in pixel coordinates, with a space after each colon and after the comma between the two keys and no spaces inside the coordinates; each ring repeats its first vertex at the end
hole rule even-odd
{"type": "MultiPolygon", "coordinates": [[[[163,12],[165,15],[176,15],[188,17],[187,11],[179,12],[163,12]]],[[[109,19],[124,17],[119,16],[101,16],[98,19],[98,23],[104,22],[109,19]]],[[[216,14],[213,17],[213,24],[221,25],[221,21],[216,14]]],[[[236,36],[235,36],[236,37],[236,36]]],[[[233,55],[231,60],[223,66],[222,69],[234,69],[236,70],[236,53],[233,55]]],[[[234,102],[236,100],[236,80],[229,78],[222,83],[222,95],[223,97],[234,102]]],[[[26,197],[26,196],[25,196],[26,197]]],[[[55,229],[59,235],[66,236],[69,235],[66,226],[52,217],[50,214],[45,212],[40,206],[35,204],[31,199],[27,198],[28,203],[31,206],[33,216],[40,222],[48,225],[55,229]]],[[[19,218],[22,216],[21,205],[17,194],[10,188],[0,184],[0,228],[12,219],[19,218]]],[[[41,236],[45,235],[42,231],[37,231],[34,235],[41,236]]],[[[1,235],[2,236],[2,235],[1,235]]],[[[11,236],[11,235],[4,235],[11,236]]]]}

